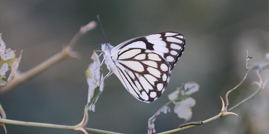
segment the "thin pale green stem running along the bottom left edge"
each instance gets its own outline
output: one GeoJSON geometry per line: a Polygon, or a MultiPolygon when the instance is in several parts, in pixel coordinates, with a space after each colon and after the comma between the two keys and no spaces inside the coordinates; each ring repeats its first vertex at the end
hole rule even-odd
{"type": "MultiPolygon", "coordinates": [[[[45,128],[54,128],[54,129],[69,129],[69,130],[76,130],[79,128],[78,126],[68,126],[68,125],[55,125],[55,124],[47,124],[47,123],[37,123],[37,122],[22,122],[22,121],[15,121],[9,119],[1,119],[1,123],[6,124],[13,124],[13,125],[24,125],[24,126],[34,126],[34,127],[45,127],[45,128]]],[[[87,132],[94,132],[99,134],[121,134],[117,132],[109,132],[99,129],[91,129],[91,128],[84,128],[87,132]]]]}

